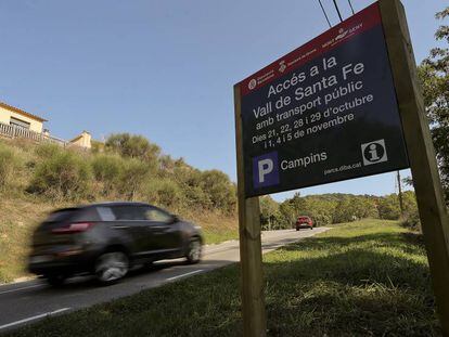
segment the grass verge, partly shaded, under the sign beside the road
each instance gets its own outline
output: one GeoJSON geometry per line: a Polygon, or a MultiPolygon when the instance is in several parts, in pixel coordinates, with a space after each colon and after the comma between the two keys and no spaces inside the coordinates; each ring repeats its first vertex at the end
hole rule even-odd
{"type": "MultiPolygon", "coordinates": [[[[439,336],[425,251],[396,222],[365,220],[265,256],[269,336],[439,336]]],[[[11,336],[240,336],[230,265],[11,336]]]]}

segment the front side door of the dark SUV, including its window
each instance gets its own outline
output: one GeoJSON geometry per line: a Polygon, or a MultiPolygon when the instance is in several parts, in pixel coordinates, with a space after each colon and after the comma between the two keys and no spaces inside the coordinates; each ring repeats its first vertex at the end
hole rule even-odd
{"type": "Polygon", "coordinates": [[[157,207],[146,207],[145,217],[152,234],[151,246],[158,258],[169,258],[182,249],[182,232],[174,217],[157,207]]]}

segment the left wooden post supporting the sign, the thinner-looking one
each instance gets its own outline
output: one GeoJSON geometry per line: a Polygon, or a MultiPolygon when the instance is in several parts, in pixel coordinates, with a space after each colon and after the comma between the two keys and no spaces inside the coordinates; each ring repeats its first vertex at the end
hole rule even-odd
{"type": "Polygon", "coordinates": [[[267,334],[258,197],[245,197],[240,87],[234,87],[243,336],[267,334]]]}

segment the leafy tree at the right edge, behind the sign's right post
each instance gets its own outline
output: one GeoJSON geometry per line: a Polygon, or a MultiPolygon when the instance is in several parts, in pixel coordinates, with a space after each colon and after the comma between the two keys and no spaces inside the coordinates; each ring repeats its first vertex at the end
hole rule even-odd
{"type": "MultiPolygon", "coordinates": [[[[435,17],[449,17],[449,7],[435,17]]],[[[449,44],[449,26],[441,25],[435,38],[449,44]]],[[[437,154],[441,183],[449,205],[449,49],[434,48],[418,68],[424,104],[431,122],[432,139],[437,154]]]]}

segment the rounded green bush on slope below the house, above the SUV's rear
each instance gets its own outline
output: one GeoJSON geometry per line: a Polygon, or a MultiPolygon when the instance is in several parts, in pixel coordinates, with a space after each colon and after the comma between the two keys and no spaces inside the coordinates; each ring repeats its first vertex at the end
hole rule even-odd
{"type": "Polygon", "coordinates": [[[89,196],[91,183],[91,169],[85,158],[68,150],[54,151],[36,166],[28,192],[57,199],[80,199],[89,196]]]}

